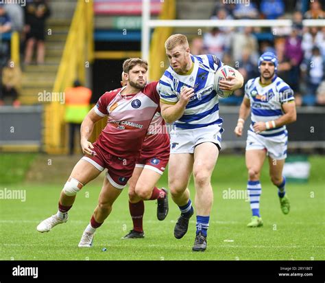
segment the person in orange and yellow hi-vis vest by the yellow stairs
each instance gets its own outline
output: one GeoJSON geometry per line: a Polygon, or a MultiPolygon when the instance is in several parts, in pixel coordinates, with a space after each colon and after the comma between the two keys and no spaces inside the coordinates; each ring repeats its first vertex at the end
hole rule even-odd
{"type": "Polygon", "coordinates": [[[65,91],[65,122],[69,124],[69,154],[73,155],[75,148],[75,131],[80,132],[80,126],[89,111],[91,90],[82,87],[79,80],[73,82],[73,87],[65,91]]]}

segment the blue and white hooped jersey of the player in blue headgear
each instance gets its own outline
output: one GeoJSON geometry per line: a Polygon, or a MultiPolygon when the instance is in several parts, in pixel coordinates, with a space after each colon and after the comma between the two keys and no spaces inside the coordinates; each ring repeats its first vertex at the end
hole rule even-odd
{"type": "MultiPolygon", "coordinates": [[[[245,98],[250,100],[251,120],[250,131],[256,122],[267,122],[278,119],[284,115],[282,103],[294,100],[293,90],[278,76],[272,83],[263,85],[260,78],[253,78],[245,84],[245,98]]],[[[287,134],[285,126],[272,128],[259,133],[264,137],[275,137],[287,134]]]]}

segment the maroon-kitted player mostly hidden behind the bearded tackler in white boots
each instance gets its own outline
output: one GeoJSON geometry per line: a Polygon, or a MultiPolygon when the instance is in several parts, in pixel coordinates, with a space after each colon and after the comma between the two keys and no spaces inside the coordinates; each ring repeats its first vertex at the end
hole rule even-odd
{"type": "MultiPolygon", "coordinates": [[[[122,86],[126,85],[122,73],[122,86]]],[[[165,120],[161,117],[160,108],[152,118],[147,135],[143,141],[141,156],[136,159],[129,185],[129,209],[133,222],[133,229],[123,237],[144,238],[143,214],[145,204],[143,200],[157,200],[157,218],[164,220],[168,214],[168,192],[165,188],[155,187],[165,171],[169,160],[169,135],[165,120]]]]}

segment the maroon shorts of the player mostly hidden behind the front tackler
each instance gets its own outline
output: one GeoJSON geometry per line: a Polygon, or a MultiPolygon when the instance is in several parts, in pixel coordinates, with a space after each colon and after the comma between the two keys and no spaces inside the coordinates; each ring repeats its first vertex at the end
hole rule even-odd
{"type": "Polygon", "coordinates": [[[150,157],[148,157],[148,155],[141,155],[138,159],[136,159],[136,167],[147,168],[162,175],[168,161],[169,154],[167,155],[165,153],[157,156],[150,155],[150,157]]]}

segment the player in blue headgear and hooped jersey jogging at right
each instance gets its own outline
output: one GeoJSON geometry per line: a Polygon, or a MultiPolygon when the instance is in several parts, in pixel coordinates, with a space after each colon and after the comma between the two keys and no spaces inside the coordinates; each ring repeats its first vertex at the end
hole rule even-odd
{"type": "Polygon", "coordinates": [[[293,91],[276,76],[278,60],[274,53],[265,52],[258,60],[259,78],[245,84],[245,97],[239,110],[239,119],[234,133],[241,136],[243,124],[252,110],[252,124],[248,130],[246,144],[246,166],[248,168],[248,194],[252,219],[248,227],[260,227],[263,221],[259,212],[261,168],[266,155],[269,159],[269,174],[272,183],[278,187],[280,207],[289,213],[290,205],[285,195],[283,165],[287,157],[288,133],[285,125],[296,121],[296,104],[293,91]]]}

